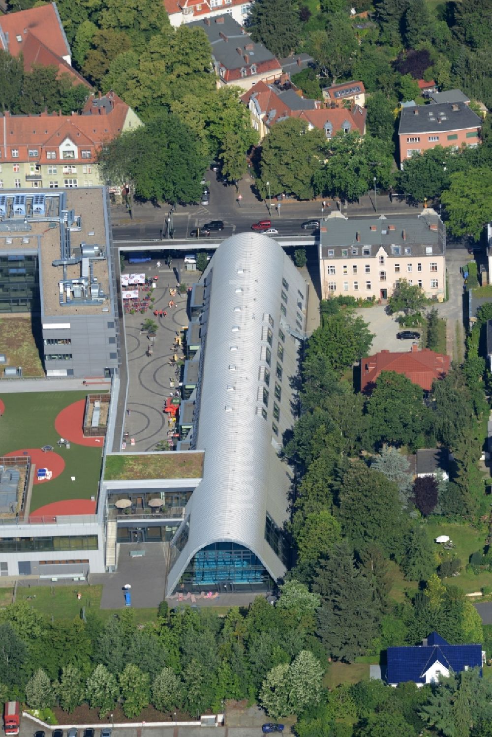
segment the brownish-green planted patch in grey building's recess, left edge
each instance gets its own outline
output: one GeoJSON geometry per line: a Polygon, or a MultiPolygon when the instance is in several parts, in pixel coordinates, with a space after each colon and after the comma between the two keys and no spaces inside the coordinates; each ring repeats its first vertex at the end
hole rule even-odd
{"type": "Polygon", "coordinates": [[[6,366],[22,366],[24,377],[44,376],[30,315],[0,319],[0,346],[1,352],[7,354],[6,366]]]}

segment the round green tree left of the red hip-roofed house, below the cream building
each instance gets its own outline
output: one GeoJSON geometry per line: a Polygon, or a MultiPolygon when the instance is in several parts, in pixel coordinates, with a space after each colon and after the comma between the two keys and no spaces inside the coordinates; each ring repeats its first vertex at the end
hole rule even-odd
{"type": "Polygon", "coordinates": [[[353,312],[325,315],[322,325],[308,341],[307,357],[322,354],[331,368],[340,372],[367,355],[374,335],[366,322],[353,312]]]}

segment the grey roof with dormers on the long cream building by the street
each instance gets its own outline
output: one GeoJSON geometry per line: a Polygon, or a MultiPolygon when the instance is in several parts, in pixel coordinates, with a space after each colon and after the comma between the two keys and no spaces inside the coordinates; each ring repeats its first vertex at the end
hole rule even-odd
{"type": "Polygon", "coordinates": [[[333,213],[322,221],[320,240],[322,258],[342,258],[342,248],[349,248],[348,256],[351,258],[364,256],[363,248],[368,245],[371,246],[371,252],[366,255],[370,256],[375,256],[381,246],[388,256],[404,256],[405,248],[411,249],[411,254],[407,255],[423,256],[429,255],[426,254],[426,246],[432,246],[432,254],[444,253],[446,229],[432,209],[423,210],[420,215],[380,217],[340,217],[333,213]],[[431,225],[437,226],[437,231],[432,231],[431,225]],[[375,226],[375,231],[371,230],[371,226],[375,226]],[[395,226],[395,229],[389,229],[389,226],[395,226]],[[392,252],[392,245],[400,246],[400,254],[392,252]],[[328,256],[328,248],[333,249],[333,256],[328,256]],[[357,248],[357,253],[352,254],[351,248],[357,248]]]}

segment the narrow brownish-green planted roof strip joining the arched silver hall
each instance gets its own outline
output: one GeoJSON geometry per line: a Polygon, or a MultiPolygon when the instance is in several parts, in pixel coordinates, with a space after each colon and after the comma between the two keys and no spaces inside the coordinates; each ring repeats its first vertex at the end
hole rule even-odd
{"type": "Polygon", "coordinates": [[[106,456],[104,481],[153,478],[201,478],[204,453],[115,453],[106,456]]]}

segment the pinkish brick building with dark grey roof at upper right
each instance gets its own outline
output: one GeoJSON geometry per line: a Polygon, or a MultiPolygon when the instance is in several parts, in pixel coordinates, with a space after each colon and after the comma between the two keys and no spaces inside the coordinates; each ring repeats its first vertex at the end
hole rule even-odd
{"type": "Polygon", "coordinates": [[[477,146],[481,130],[482,119],[465,102],[406,105],[398,128],[400,164],[436,146],[477,146]]]}

